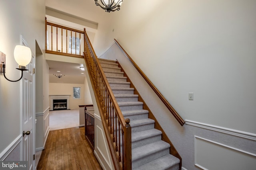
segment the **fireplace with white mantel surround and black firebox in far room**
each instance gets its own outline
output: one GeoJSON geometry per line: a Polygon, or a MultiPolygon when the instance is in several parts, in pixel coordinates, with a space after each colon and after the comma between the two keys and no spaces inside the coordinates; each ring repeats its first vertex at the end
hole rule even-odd
{"type": "Polygon", "coordinates": [[[49,95],[51,110],[68,110],[70,95],[49,95]]]}

